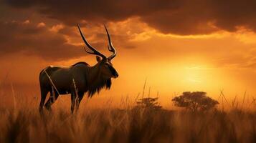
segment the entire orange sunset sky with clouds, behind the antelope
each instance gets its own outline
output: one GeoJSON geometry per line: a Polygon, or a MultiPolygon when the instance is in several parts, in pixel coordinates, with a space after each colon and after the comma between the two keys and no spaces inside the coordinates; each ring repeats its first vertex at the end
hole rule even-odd
{"type": "Polygon", "coordinates": [[[146,94],[161,102],[186,91],[228,99],[256,94],[256,1],[95,0],[0,1],[1,86],[38,94],[47,65],[96,64],[83,50],[76,24],[106,55],[108,27],[120,74],[110,91],[93,98],[146,94]],[[4,86],[6,84],[6,86],[4,86]]]}

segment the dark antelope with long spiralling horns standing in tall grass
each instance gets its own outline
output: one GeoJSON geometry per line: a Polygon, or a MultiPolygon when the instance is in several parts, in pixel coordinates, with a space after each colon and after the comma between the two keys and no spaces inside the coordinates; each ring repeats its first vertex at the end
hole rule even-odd
{"type": "Polygon", "coordinates": [[[103,88],[110,89],[111,78],[118,77],[118,72],[111,63],[111,60],[116,55],[116,51],[111,42],[107,27],[105,26],[108,35],[108,50],[113,53],[109,57],[104,56],[100,51],[93,48],[82,34],[79,24],[77,24],[77,27],[82,40],[90,49],[90,51],[87,51],[84,47],[85,51],[88,54],[96,55],[98,63],[90,66],[86,62],[81,61],[72,66],[47,66],[43,69],[39,74],[41,90],[39,112],[42,112],[43,107],[50,110],[51,105],[60,94],[71,94],[71,112],[73,113],[74,110],[78,109],[85,92],[88,93],[88,97],[93,97],[96,92],[99,93],[103,88]],[[50,96],[46,104],[44,104],[48,92],[50,96]]]}

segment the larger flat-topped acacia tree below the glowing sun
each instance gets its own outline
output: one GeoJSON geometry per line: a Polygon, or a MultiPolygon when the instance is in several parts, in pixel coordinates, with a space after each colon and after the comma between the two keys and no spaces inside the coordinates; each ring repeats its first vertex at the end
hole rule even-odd
{"type": "Polygon", "coordinates": [[[172,99],[176,107],[184,107],[192,112],[208,111],[214,108],[219,102],[207,97],[206,92],[183,92],[179,97],[172,99]]]}

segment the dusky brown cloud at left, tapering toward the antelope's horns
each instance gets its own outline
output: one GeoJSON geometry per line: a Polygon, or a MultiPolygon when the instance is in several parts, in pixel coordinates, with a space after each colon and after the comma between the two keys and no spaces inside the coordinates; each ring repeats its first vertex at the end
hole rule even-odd
{"type": "Polygon", "coordinates": [[[0,31],[1,55],[22,52],[46,60],[62,60],[85,55],[81,46],[68,44],[62,34],[49,31],[43,23],[0,21],[0,31]]]}

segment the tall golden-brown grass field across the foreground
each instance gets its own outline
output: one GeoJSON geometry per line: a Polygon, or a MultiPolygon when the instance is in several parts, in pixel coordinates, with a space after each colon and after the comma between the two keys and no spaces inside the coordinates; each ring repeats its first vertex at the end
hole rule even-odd
{"type": "Polygon", "coordinates": [[[0,108],[0,142],[256,142],[256,112],[241,106],[193,113],[123,101],[71,114],[68,101],[40,115],[39,99],[9,97],[13,105],[0,108]]]}

